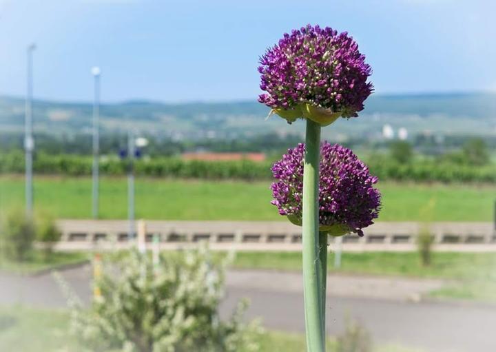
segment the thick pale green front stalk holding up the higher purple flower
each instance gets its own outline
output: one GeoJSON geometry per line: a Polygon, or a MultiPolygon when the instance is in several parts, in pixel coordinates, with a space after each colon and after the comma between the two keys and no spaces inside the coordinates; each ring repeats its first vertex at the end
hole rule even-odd
{"type": "Polygon", "coordinates": [[[320,125],[307,118],[303,168],[303,291],[308,352],[325,351],[320,283],[318,189],[320,125]]]}

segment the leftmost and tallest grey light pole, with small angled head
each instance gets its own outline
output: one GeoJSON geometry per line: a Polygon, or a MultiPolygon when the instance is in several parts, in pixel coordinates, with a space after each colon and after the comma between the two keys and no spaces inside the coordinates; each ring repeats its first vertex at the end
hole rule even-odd
{"type": "Polygon", "coordinates": [[[25,211],[26,215],[32,216],[33,209],[33,186],[32,186],[32,154],[34,150],[34,139],[32,136],[32,54],[36,49],[33,43],[28,46],[27,61],[27,90],[25,98],[24,116],[24,150],[25,150],[25,211]]]}

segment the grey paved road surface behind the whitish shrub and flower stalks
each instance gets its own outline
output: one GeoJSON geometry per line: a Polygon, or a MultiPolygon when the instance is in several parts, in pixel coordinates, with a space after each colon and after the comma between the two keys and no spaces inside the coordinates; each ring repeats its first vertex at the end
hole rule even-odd
{"type": "MultiPolygon", "coordinates": [[[[90,298],[89,267],[64,271],[63,277],[81,298],[86,301],[90,298]]],[[[496,306],[413,302],[405,296],[406,291],[422,293],[437,287],[439,282],[368,278],[360,286],[363,279],[366,278],[329,278],[327,331],[331,335],[342,331],[343,317],[349,314],[371,331],[375,342],[404,344],[433,352],[496,351],[496,306]],[[366,297],[367,289],[373,298],[366,297]],[[378,295],[374,291],[386,294],[378,295]]],[[[221,313],[228,314],[240,298],[247,297],[251,300],[248,318],[262,317],[269,329],[303,331],[300,282],[298,273],[231,271],[221,313]]],[[[38,277],[0,274],[0,304],[16,302],[61,307],[65,298],[50,274],[38,277]]]]}

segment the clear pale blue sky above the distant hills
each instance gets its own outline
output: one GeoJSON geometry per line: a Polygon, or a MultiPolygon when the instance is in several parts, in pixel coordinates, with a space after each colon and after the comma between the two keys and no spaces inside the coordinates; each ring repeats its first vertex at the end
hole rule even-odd
{"type": "Polygon", "coordinates": [[[496,90],[496,1],[0,0],[0,94],[37,98],[256,99],[258,56],[306,23],[347,30],[378,93],[496,90]]]}

